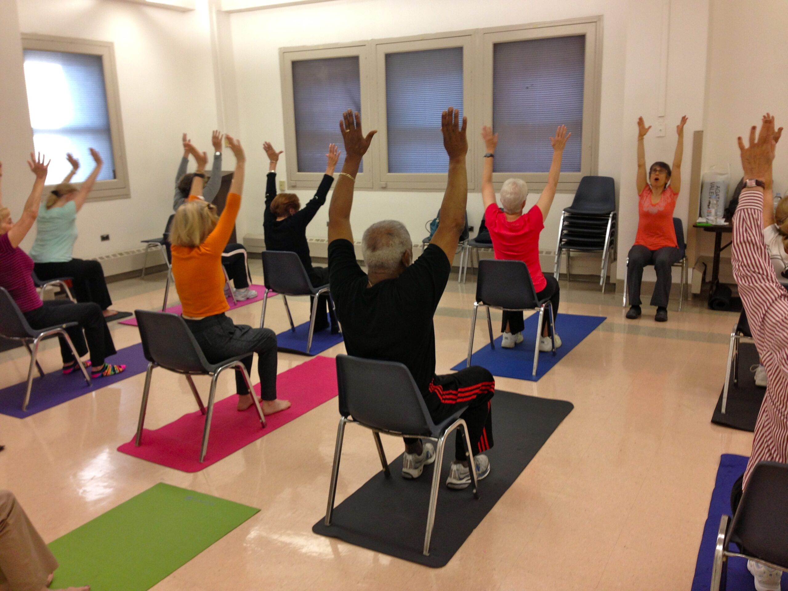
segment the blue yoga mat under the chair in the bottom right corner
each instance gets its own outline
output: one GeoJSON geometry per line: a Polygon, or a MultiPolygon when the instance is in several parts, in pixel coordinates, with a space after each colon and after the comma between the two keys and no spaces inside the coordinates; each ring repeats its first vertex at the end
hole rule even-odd
{"type": "MultiPolygon", "coordinates": [[[[708,505],[708,518],[703,526],[701,549],[697,553],[695,577],[692,591],[708,591],[712,584],[712,565],[714,564],[714,548],[717,544],[719,519],[730,515],[730,489],[738,477],[744,474],[749,458],[744,455],[723,454],[719,459],[717,481],[712,492],[712,502],[708,505]]],[[[743,558],[728,559],[728,589],[736,591],[755,591],[753,575],[747,570],[747,560],[743,558]]],[[[782,591],[788,591],[788,576],[782,577],[782,591]]]]}

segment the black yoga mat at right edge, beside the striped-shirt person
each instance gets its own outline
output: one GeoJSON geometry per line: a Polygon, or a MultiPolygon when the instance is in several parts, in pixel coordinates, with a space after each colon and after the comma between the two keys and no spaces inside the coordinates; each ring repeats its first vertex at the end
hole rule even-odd
{"type": "MultiPolygon", "coordinates": [[[[739,344],[739,383],[734,384],[734,368],[730,368],[730,385],[728,386],[728,402],[725,414],[720,409],[723,407],[723,392],[719,392],[719,400],[712,415],[712,422],[716,425],[754,431],[755,423],[760,412],[760,404],[764,401],[766,388],[755,385],[755,374],[749,370],[750,366],[758,362],[758,351],[752,343],[739,344]]],[[[723,384],[723,390],[725,385],[723,384]]]]}

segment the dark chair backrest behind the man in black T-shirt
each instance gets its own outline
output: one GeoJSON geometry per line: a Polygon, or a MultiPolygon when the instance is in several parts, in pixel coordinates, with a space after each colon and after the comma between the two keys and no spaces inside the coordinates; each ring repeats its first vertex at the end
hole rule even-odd
{"type": "Polygon", "coordinates": [[[374,429],[434,435],[435,423],[402,363],[336,355],[340,413],[374,429]]]}

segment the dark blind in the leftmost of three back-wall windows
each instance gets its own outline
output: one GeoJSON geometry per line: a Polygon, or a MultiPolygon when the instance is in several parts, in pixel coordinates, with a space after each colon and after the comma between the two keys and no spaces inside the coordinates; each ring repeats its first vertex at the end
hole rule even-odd
{"type": "MultiPolygon", "coordinates": [[[[358,56],[293,61],[292,75],[299,173],[324,172],[329,143],[336,143],[342,151],[336,165],[337,170],[342,169],[342,113],[348,109],[361,113],[358,56]]],[[[362,129],[368,132],[369,122],[362,129]]]]}

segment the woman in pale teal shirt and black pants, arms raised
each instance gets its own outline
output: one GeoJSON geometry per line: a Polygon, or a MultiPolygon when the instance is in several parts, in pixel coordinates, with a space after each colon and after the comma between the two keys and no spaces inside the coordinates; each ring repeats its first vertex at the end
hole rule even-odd
{"type": "Polygon", "coordinates": [[[99,304],[106,317],[117,313],[110,310],[112,299],[106,288],[101,263],[72,257],[77,236],[76,214],[84,206],[87,194],[91,192],[102,167],[99,152],[91,148],[91,156],[95,161],[95,169],[82,186],[76,188],[69,180],[79,169],[80,162],[71,154],[66,155],[72,170],[50,193],[46,203],[41,204],[30,257],[35,261],[33,270],[39,279],[47,281],[58,277],[71,277],[76,301],[99,304]]]}

